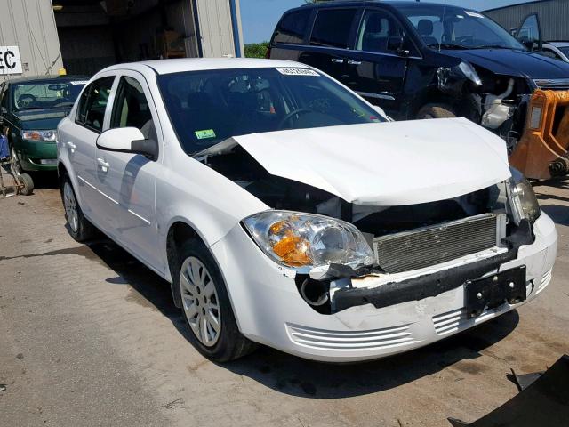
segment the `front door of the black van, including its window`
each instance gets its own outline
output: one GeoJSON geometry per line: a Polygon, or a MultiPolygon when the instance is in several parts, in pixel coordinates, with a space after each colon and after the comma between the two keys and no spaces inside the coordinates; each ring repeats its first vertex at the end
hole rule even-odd
{"type": "Polygon", "coordinates": [[[382,8],[366,9],[350,54],[353,58],[347,60],[346,85],[397,116],[404,102],[408,61],[419,57],[397,17],[382,8]]]}

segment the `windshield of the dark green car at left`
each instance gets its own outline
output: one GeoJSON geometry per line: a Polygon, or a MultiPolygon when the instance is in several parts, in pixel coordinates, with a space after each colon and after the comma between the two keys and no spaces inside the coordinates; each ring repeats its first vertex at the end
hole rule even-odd
{"type": "Polygon", "coordinates": [[[13,107],[29,109],[70,109],[87,82],[84,80],[42,80],[14,85],[13,107]]]}

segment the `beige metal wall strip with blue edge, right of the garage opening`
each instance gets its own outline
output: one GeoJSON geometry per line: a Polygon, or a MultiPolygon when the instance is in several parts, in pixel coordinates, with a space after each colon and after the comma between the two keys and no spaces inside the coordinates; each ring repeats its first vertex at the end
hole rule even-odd
{"type": "Polygon", "coordinates": [[[205,58],[236,56],[233,25],[238,28],[239,50],[244,52],[239,4],[236,2],[236,20],[231,17],[231,0],[194,0],[194,12],[199,23],[202,56],[205,58]]]}

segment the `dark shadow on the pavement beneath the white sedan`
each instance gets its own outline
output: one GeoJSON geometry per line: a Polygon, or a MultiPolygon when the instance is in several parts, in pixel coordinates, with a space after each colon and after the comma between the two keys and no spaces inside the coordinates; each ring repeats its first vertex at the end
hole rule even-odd
{"type": "MultiPolygon", "coordinates": [[[[109,278],[108,283],[131,286],[135,295],[130,295],[130,300],[160,310],[180,334],[188,338],[191,333],[180,310],[172,302],[167,282],[107,239],[93,242],[89,248],[93,258],[116,272],[116,278],[109,278]]],[[[273,390],[314,399],[345,398],[389,390],[466,360],[468,363],[461,363],[453,370],[455,381],[461,381],[461,374],[472,375],[484,370],[484,365],[476,360],[481,356],[480,352],[508,336],[516,328],[518,320],[517,312],[512,311],[426,348],[360,364],[319,363],[260,346],[244,359],[220,364],[220,367],[273,390]]],[[[490,351],[485,355],[498,358],[490,351]]]]}

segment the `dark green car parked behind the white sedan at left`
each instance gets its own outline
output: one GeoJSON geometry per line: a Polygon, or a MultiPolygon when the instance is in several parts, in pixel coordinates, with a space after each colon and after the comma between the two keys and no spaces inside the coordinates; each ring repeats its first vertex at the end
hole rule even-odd
{"type": "Polygon", "coordinates": [[[0,83],[0,123],[7,128],[16,173],[57,170],[57,125],[84,77],[26,77],[0,83]]]}

